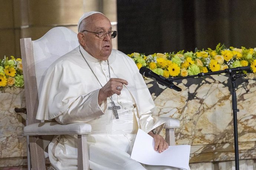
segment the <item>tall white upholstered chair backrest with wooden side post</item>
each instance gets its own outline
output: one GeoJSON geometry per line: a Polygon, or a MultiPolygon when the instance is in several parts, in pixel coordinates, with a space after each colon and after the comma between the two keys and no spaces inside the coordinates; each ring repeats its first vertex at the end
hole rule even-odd
{"type": "Polygon", "coordinates": [[[79,45],[77,34],[66,27],[55,27],[42,38],[20,39],[28,124],[38,122],[36,112],[47,68],[79,45]]]}

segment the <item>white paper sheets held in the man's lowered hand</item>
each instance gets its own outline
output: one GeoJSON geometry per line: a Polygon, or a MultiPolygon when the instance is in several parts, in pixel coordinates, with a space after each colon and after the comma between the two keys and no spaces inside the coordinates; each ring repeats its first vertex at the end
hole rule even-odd
{"type": "Polygon", "coordinates": [[[154,150],[154,138],[139,129],[131,158],[148,165],[164,165],[180,169],[189,169],[190,145],[169,146],[162,153],[154,150]]]}

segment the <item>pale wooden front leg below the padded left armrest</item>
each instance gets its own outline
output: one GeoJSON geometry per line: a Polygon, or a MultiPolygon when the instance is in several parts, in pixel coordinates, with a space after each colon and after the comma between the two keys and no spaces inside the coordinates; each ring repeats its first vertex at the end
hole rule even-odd
{"type": "Polygon", "coordinates": [[[78,135],[78,170],[89,170],[86,135],[78,135]]]}

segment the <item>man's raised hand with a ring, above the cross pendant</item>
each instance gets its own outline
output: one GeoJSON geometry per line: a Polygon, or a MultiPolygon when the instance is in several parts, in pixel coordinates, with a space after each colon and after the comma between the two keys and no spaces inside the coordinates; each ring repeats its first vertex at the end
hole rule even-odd
{"type": "Polygon", "coordinates": [[[117,94],[121,94],[123,85],[128,85],[128,82],[121,78],[111,78],[109,81],[99,90],[98,103],[101,104],[106,98],[117,94]],[[120,87],[118,90],[117,87],[120,87]]]}

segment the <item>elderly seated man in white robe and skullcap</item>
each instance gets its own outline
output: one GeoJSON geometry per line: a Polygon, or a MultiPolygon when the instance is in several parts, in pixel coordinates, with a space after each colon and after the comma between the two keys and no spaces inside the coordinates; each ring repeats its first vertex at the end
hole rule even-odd
{"type": "MultiPolygon", "coordinates": [[[[79,47],[60,57],[47,70],[37,119],[61,124],[86,122],[89,166],[92,170],[145,170],[130,158],[137,130],[154,137],[155,150],[168,148],[159,135],[164,123],[151,115],[154,102],[135,63],[112,49],[108,18],[83,14],[78,23],[79,47]]],[[[49,145],[55,169],[77,169],[77,136],[56,136],[49,145]]],[[[162,168],[157,168],[162,169],[162,168]]]]}

